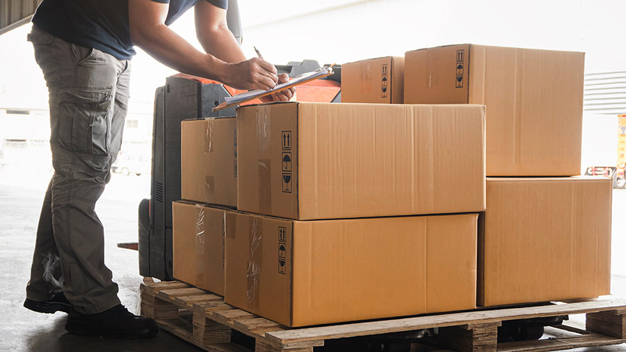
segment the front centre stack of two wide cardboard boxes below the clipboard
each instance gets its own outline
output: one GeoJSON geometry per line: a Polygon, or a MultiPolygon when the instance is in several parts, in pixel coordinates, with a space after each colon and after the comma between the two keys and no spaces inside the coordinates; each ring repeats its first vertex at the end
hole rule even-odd
{"type": "Polygon", "coordinates": [[[474,308],[484,134],[481,105],[239,108],[226,303],[288,326],[474,308]]]}

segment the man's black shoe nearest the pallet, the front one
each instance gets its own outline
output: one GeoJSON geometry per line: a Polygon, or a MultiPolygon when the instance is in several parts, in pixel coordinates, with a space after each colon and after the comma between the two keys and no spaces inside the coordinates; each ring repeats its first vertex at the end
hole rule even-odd
{"type": "Polygon", "coordinates": [[[121,304],[97,314],[72,312],[65,322],[65,330],[75,335],[118,339],[141,339],[159,333],[154,320],[137,317],[121,304]]]}

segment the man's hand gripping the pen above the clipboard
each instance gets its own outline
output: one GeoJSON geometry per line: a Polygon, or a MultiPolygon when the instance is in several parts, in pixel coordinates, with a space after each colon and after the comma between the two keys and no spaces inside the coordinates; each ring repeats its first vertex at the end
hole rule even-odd
{"type": "Polygon", "coordinates": [[[261,58],[231,63],[225,70],[223,83],[237,89],[268,90],[276,86],[276,67],[261,58]]]}

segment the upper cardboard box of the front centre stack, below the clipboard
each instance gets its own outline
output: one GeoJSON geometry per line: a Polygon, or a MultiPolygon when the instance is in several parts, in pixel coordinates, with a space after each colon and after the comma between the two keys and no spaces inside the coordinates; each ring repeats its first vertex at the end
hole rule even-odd
{"type": "Polygon", "coordinates": [[[237,109],[243,211],[299,220],[483,211],[485,107],[237,109]]]}

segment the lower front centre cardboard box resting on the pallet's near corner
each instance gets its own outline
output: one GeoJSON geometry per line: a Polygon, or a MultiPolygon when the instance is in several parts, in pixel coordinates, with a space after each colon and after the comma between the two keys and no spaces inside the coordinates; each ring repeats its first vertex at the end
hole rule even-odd
{"type": "Polygon", "coordinates": [[[287,326],[472,309],[477,218],[230,213],[225,301],[287,326]]]}

